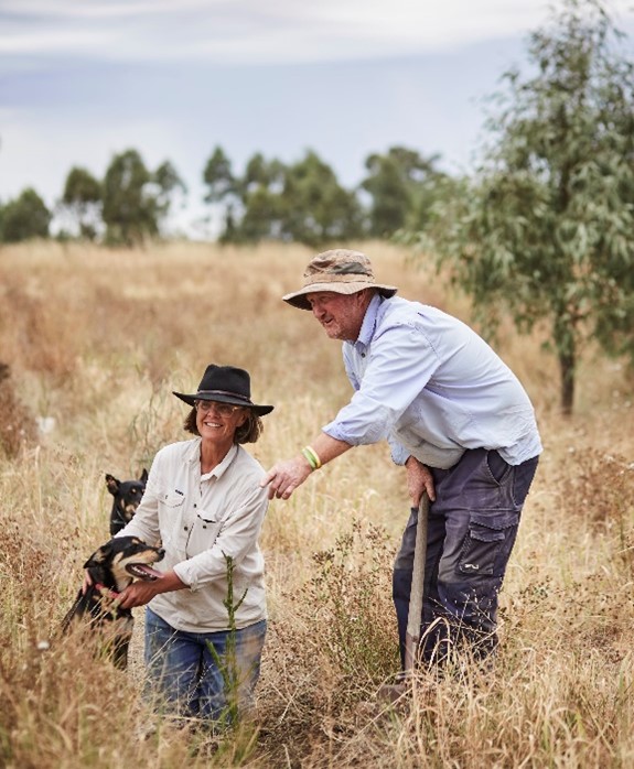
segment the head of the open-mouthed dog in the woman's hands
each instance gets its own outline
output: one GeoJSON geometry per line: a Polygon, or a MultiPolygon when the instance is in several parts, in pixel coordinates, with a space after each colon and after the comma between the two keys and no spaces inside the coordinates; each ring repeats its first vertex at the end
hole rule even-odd
{"type": "Polygon", "coordinates": [[[103,544],[84,564],[94,583],[120,593],[135,580],[152,581],[162,576],[151,564],[161,561],[165,551],[151,548],[138,537],[116,537],[103,544]]]}

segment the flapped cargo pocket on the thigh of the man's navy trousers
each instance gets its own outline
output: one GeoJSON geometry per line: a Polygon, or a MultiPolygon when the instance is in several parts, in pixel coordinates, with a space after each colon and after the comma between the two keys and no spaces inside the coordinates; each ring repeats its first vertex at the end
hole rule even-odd
{"type": "Polygon", "coordinates": [[[458,563],[460,572],[474,576],[503,576],[518,522],[519,516],[513,511],[472,515],[458,563]]]}

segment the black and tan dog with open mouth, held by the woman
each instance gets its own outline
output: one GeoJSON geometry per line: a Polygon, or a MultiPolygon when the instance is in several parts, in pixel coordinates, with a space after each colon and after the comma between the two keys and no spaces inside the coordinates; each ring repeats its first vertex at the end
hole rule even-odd
{"type": "Polygon", "coordinates": [[[101,653],[125,670],[135,619],[131,609],[117,605],[118,594],[136,580],[160,577],[152,564],[163,555],[162,548],[151,548],[137,537],[117,537],[101,545],[84,564],[93,584],[85,593],[78,592],[62,622],[63,632],[84,620],[86,628],[98,636],[101,653]]]}

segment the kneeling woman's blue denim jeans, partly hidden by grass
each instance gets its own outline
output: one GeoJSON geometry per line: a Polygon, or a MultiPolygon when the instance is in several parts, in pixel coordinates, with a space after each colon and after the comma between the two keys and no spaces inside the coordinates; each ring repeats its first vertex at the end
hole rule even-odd
{"type": "Polygon", "coordinates": [[[148,693],[158,695],[168,711],[181,716],[223,721],[232,703],[243,713],[252,705],[266,632],[266,619],[234,630],[235,662],[232,663],[227,660],[229,630],[174,630],[147,608],[148,693]],[[211,647],[221,660],[219,667],[211,647]],[[227,674],[233,683],[227,684],[227,674]]]}

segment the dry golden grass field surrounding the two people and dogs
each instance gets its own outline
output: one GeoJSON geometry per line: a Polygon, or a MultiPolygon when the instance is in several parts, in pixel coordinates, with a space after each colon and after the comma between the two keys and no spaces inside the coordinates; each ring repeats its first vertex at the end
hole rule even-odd
{"type": "MultiPolygon", "coordinates": [[[[363,248],[401,295],[469,322],[425,262],[363,248]]],[[[127,673],[60,638],[82,563],[108,539],[105,474],[137,477],[186,437],[171,390],[190,391],[211,361],[247,368],[256,401],[276,404],[247,446],[266,467],[346,402],[340,345],[280,301],[309,257],[279,245],[0,250],[0,766],[634,766],[634,382],[591,342],[567,420],[545,337],[508,327],[496,343],[545,453],[486,674],[421,676],[402,707],[367,704],[397,667],[390,568],[408,515],[384,445],[271,503],[270,632],[255,719],[236,733],[211,738],[147,710],[141,609],[127,673]]]]}

